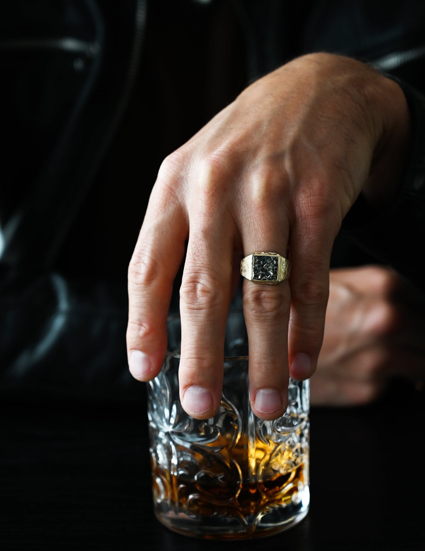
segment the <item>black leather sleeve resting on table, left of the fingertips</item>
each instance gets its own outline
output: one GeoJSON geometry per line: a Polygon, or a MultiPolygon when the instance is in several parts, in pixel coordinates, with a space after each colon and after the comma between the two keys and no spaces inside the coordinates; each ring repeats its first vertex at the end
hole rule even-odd
{"type": "Polygon", "coordinates": [[[126,285],[0,266],[1,396],[140,401],[127,367],[126,285]]]}

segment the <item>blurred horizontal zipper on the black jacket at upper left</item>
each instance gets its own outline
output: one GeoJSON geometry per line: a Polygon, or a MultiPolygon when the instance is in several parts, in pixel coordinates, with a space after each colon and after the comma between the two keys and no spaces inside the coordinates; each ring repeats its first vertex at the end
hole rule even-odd
{"type": "Polygon", "coordinates": [[[97,42],[64,36],[63,38],[54,39],[1,40],[0,50],[59,50],[95,56],[99,53],[100,46],[97,42]]]}

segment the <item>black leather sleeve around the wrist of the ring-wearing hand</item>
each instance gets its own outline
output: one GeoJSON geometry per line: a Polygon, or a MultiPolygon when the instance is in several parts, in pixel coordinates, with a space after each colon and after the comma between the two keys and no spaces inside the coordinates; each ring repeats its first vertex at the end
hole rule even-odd
{"type": "MultiPolygon", "coordinates": [[[[391,77],[394,78],[394,77],[391,77]]],[[[378,216],[361,195],[341,231],[379,262],[394,267],[425,290],[425,96],[395,79],[405,93],[412,120],[412,148],[393,203],[378,216]]]]}

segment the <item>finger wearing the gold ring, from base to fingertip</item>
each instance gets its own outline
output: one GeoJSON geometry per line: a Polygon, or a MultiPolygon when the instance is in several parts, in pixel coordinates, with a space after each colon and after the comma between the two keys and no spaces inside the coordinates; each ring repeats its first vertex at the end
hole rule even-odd
{"type": "MultiPolygon", "coordinates": [[[[277,210],[268,209],[264,217],[254,218],[243,235],[244,255],[264,251],[286,257],[287,244],[287,220],[279,217],[277,210]]],[[[261,419],[276,419],[287,407],[290,305],[287,280],[274,285],[244,280],[250,401],[261,419]]]]}

